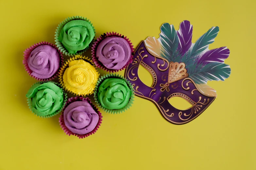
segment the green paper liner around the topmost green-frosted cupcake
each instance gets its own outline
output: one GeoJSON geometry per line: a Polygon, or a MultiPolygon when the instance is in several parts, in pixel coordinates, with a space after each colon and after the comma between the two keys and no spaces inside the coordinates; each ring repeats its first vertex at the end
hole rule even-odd
{"type": "MultiPolygon", "coordinates": [[[[87,21],[89,23],[91,23],[90,20],[88,20],[87,18],[84,18],[84,17],[81,17],[81,16],[73,16],[73,17],[68,17],[66,18],[64,21],[60,22],[60,24],[58,25],[57,29],[56,29],[56,32],[55,32],[55,44],[57,45],[57,47],[59,48],[59,50],[65,54],[65,55],[68,55],[68,56],[75,56],[75,55],[81,55],[83,52],[85,52],[86,50],[88,50],[94,43],[94,39],[92,40],[92,42],[89,44],[89,46],[84,49],[84,50],[80,50],[80,51],[77,51],[76,54],[70,54],[68,52],[68,50],[65,49],[65,47],[62,45],[62,43],[59,41],[59,35],[60,35],[60,31],[62,29],[62,27],[68,23],[69,21],[72,21],[72,20],[84,20],[84,21],[87,21]]],[[[93,24],[91,23],[91,25],[93,26],[93,24]]],[[[93,26],[93,29],[94,29],[94,34],[96,35],[96,32],[95,32],[95,28],[93,26]]],[[[95,36],[94,36],[95,38],[95,36]]]]}

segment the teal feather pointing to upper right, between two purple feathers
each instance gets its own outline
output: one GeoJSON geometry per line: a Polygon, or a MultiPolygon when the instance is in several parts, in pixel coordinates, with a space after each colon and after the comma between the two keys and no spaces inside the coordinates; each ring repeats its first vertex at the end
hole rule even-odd
{"type": "Polygon", "coordinates": [[[204,35],[200,36],[196,43],[191,46],[191,56],[194,57],[201,54],[204,50],[207,50],[209,44],[214,42],[214,38],[218,35],[219,27],[212,27],[204,35]]]}

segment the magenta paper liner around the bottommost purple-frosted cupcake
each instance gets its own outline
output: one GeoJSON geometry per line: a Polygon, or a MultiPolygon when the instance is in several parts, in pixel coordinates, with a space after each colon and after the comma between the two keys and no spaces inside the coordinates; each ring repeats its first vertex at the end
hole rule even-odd
{"type": "Polygon", "coordinates": [[[90,136],[90,135],[92,135],[92,134],[94,134],[94,133],[96,133],[96,131],[98,130],[98,128],[99,128],[99,126],[100,126],[100,124],[101,124],[101,122],[102,122],[102,118],[103,116],[101,116],[101,113],[100,113],[100,111],[98,111],[98,108],[91,102],[91,100],[87,97],[87,98],[84,98],[84,97],[71,97],[71,98],[69,98],[68,100],[67,100],[67,102],[66,102],[66,105],[64,106],[64,108],[63,108],[63,110],[62,110],[62,114],[60,115],[60,120],[59,120],[59,122],[60,122],[60,127],[62,128],[62,130],[66,133],[66,135],[75,135],[75,136],[77,136],[79,139],[81,138],[85,138],[85,137],[88,137],[88,136],[90,136]],[[93,131],[91,131],[91,132],[89,132],[89,133],[87,133],[87,134],[84,134],[84,135],[78,135],[78,134],[75,134],[75,133],[73,133],[73,132],[71,132],[67,127],[66,127],[66,125],[65,125],[65,122],[64,122],[64,116],[63,116],[63,113],[64,113],[64,110],[65,110],[65,108],[70,104],[70,103],[73,103],[73,102],[76,102],[76,101],[88,101],[92,106],[93,106],[93,108],[94,108],[94,110],[96,111],[96,113],[99,115],[99,121],[98,121],[98,123],[97,123],[97,125],[95,126],[95,128],[94,128],[94,130],[93,131]]]}

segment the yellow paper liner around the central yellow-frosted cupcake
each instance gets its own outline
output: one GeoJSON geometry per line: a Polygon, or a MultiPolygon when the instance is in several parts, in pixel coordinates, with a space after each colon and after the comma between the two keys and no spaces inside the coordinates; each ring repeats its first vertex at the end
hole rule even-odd
{"type": "MultiPolygon", "coordinates": [[[[60,85],[61,85],[65,90],[67,90],[68,92],[71,92],[72,94],[75,94],[75,95],[85,96],[84,94],[77,94],[77,93],[71,91],[70,89],[66,88],[66,87],[64,86],[64,82],[63,82],[63,74],[64,74],[66,68],[68,68],[69,62],[71,62],[71,61],[73,61],[73,60],[80,60],[80,59],[82,59],[82,60],[84,60],[84,61],[86,61],[86,62],[91,63],[91,64],[94,66],[94,68],[96,69],[95,64],[94,64],[93,61],[90,60],[88,57],[81,56],[81,55],[76,55],[75,57],[70,58],[66,63],[63,64],[63,66],[61,67],[61,70],[60,70],[59,79],[60,79],[60,85]]],[[[99,76],[98,70],[96,70],[96,71],[97,71],[98,76],[99,76]]],[[[94,91],[91,92],[90,94],[93,94],[93,93],[94,93],[94,91]]],[[[88,94],[88,95],[89,95],[89,94],[88,94]]]]}

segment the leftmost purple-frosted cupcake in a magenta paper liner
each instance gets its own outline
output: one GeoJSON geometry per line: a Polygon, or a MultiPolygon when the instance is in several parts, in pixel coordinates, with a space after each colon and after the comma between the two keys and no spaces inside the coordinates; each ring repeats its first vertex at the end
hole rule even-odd
{"type": "Polygon", "coordinates": [[[63,56],[55,45],[44,41],[24,51],[23,64],[31,77],[46,81],[59,75],[63,56]]]}

